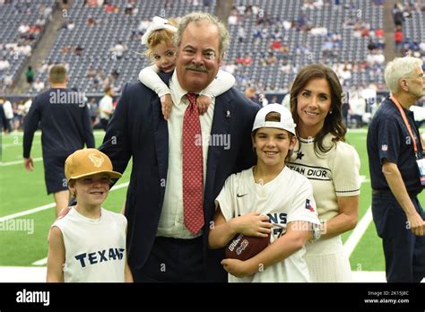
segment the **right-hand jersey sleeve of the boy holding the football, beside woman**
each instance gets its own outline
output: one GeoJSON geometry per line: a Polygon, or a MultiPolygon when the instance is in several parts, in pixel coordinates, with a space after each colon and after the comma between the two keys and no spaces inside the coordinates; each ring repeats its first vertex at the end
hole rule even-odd
{"type": "Polygon", "coordinates": [[[314,224],[320,224],[317,218],[317,208],[315,198],[313,197],[313,186],[308,178],[299,176],[304,181],[299,187],[294,187],[294,200],[288,211],[287,222],[307,221],[314,224]]]}

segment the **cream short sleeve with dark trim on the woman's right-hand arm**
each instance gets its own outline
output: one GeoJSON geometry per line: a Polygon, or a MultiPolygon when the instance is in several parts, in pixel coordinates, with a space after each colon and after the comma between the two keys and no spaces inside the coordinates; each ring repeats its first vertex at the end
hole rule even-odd
{"type": "Polygon", "coordinates": [[[336,143],[331,170],[336,196],[360,195],[360,157],[351,145],[336,143]]]}

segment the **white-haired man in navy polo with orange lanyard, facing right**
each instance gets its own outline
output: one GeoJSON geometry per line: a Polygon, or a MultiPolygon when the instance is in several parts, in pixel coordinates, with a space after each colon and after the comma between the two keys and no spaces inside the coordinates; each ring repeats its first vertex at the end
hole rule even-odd
{"type": "Polygon", "coordinates": [[[395,58],[386,66],[391,96],[368,132],[372,213],[383,239],[387,282],[421,282],[425,276],[425,212],[417,195],[425,185],[423,144],[409,108],[425,95],[422,61],[395,58]]]}

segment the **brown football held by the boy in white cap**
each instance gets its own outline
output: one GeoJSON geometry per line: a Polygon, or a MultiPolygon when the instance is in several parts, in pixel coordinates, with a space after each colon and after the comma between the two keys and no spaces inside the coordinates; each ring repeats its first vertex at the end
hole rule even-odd
{"type": "Polygon", "coordinates": [[[226,258],[245,261],[256,256],[270,244],[270,234],[266,238],[237,234],[226,246],[226,258]]]}

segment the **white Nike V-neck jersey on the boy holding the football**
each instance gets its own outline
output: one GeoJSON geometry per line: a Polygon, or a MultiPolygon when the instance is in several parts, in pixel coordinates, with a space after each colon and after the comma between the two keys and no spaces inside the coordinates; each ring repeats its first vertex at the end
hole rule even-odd
{"type": "MultiPolygon", "coordinates": [[[[308,221],[319,224],[313,188],[307,178],[285,167],[281,173],[264,186],[255,183],[252,168],[227,178],[216,199],[226,221],[247,214],[267,214],[276,224],[270,238],[273,241],[286,232],[292,221],[308,221]]],[[[283,261],[245,278],[229,274],[229,282],[309,282],[305,248],[283,261]]]]}

